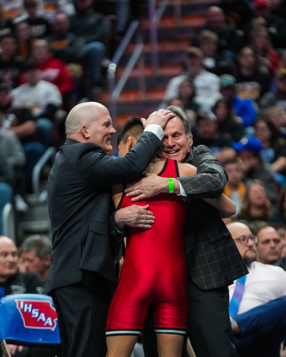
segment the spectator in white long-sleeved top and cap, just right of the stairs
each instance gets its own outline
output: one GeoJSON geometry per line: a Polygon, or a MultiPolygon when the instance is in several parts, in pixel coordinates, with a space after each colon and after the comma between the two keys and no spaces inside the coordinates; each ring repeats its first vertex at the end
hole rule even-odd
{"type": "Polygon", "coordinates": [[[215,102],[222,97],[220,93],[220,79],[217,75],[203,68],[203,51],[198,47],[189,47],[186,50],[187,71],[169,81],[163,99],[163,106],[179,94],[180,84],[187,78],[193,80],[196,97],[194,101],[203,110],[210,110],[215,102]]]}

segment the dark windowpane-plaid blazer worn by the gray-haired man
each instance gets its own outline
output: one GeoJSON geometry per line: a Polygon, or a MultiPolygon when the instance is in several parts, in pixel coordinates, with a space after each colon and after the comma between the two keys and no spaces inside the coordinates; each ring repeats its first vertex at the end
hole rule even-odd
{"type": "Polygon", "coordinates": [[[227,174],[203,145],[191,147],[184,162],[196,166],[199,174],[178,178],[189,200],[184,232],[188,277],[202,290],[230,285],[248,270],[218,210],[200,200],[219,196],[227,174]]]}

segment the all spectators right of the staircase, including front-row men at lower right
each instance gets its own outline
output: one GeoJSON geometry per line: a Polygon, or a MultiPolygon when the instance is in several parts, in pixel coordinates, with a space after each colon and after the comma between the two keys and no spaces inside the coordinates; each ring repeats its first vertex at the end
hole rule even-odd
{"type": "Polygon", "coordinates": [[[225,223],[249,270],[244,282],[230,286],[232,297],[245,284],[233,313],[240,357],[286,356],[279,352],[286,326],[273,312],[285,314],[286,275],[269,267],[286,270],[285,9],[283,0],[221,0],[209,7],[184,72],[170,80],[161,104],[186,111],[193,145],[208,146],[228,174],[225,194],[237,210],[225,223]]]}

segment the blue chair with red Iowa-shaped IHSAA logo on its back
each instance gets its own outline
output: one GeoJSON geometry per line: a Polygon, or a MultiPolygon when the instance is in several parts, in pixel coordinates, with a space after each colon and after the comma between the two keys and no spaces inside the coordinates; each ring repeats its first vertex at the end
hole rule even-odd
{"type": "Polygon", "coordinates": [[[7,343],[21,346],[60,344],[58,316],[50,296],[12,294],[0,299],[0,344],[10,357],[7,343]]]}

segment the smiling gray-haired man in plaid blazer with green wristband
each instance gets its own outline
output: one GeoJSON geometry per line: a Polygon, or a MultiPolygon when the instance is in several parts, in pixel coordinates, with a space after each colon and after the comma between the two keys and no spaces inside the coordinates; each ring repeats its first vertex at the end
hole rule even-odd
{"type": "MultiPolygon", "coordinates": [[[[197,166],[197,175],[174,179],[174,193],[186,195],[189,201],[184,232],[188,336],[197,357],[237,357],[228,314],[228,285],[248,271],[218,210],[200,200],[223,193],[227,175],[206,146],[190,147],[191,130],[186,118],[182,120],[184,113],[174,106],[168,109],[177,115],[172,119],[177,125],[164,131],[163,156],[197,166]]],[[[156,175],[127,189],[130,196],[140,193],[134,202],[166,191],[168,182],[156,175]]],[[[153,348],[150,355],[156,354],[153,348]]]]}

